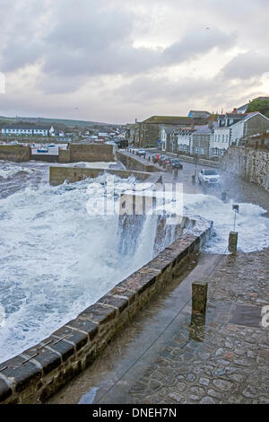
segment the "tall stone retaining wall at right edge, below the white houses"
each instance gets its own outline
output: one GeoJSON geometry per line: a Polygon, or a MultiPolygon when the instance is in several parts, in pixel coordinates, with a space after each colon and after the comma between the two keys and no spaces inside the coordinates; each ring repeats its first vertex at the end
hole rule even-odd
{"type": "Polygon", "coordinates": [[[269,189],[268,150],[230,146],[221,160],[221,168],[269,189]]]}

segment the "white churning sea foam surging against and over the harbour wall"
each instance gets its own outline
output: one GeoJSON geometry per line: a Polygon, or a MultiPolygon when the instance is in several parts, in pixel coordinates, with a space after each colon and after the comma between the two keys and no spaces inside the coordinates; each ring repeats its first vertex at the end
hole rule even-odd
{"type": "MultiPolygon", "coordinates": [[[[100,189],[104,180],[97,180],[100,189]]],[[[126,181],[116,180],[118,194],[129,188],[126,181]]],[[[0,199],[0,362],[48,337],[152,259],[156,216],[146,217],[136,251],[123,257],[118,251],[118,215],[87,213],[87,188],[94,182],[57,187],[43,182],[0,199]]],[[[94,195],[100,194],[97,187],[94,195]]],[[[216,236],[206,251],[224,251],[233,230],[231,203],[210,195],[184,195],[184,209],[187,215],[213,220],[216,236]]],[[[269,246],[264,212],[253,204],[239,204],[241,251],[269,246]]]]}

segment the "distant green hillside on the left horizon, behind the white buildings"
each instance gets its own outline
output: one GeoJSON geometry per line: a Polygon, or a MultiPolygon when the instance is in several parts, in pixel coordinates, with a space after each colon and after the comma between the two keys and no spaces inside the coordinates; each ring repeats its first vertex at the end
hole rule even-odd
{"type": "Polygon", "coordinates": [[[87,120],[70,120],[70,119],[45,119],[45,118],[22,118],[22,117],[15,117],[15,118],[6,118],[4,116],[0,116],[0,125],[3,126],[4,123],[16,123],[16,122],[27,122],[27,123],[35,123],[35,124],[42,124],[42,125],[56,125],[61,127],[90,127],[90,126],[106,126],[112,127],[117,126],[117,124],[113,125],[110,123],[101,123],[98,121],[87,121],[87,120]]]}

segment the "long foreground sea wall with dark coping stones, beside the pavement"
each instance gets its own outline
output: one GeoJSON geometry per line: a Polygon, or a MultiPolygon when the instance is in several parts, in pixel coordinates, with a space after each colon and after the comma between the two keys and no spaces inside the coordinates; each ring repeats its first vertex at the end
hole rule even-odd
{"type": "MultiPolygon", "coordinates": [[[[196,217],[195,217],[196,218],[196,217]]],[[[0,364],[0,403],[43,403],[100,356],[161,288],[184,271],[212,222],[198,218],[184,237],[113,287],[35,347],[0,364]]]]}

